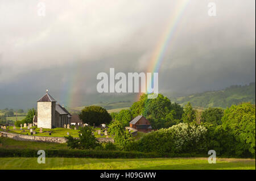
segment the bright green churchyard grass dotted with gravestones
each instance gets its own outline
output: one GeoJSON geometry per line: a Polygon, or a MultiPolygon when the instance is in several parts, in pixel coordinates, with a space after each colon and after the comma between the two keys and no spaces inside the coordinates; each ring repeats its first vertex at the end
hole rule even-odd
{"type": "MultiPolygon", "coordinates": [[[[9,128],[9,132],[11,133],[19,133],[19,134],[28,134],[30,135],[30,130],[27,128],[23,128],[25,132],[22,132],[22,130],[20,130],[19,128],[16,128],[15,130],[13,129],[13,127],[7,127],[9,128]]],[[[64,136],[68,136],[67,133],[69,132],[69,135],[72,137],[79,137],[79,130],[75,130],[75,129],[64,129],[64,128],[54,128],[54,129],[43,129],[43,133],[40,133],[40,128],[37,127],[32,127],[35,128],[36,131],[36,135],[35,136],[49,136],[49,137],[64,137],[64,136]],[[51,131],[51,135],[49,135],[49,131],[51,131]]],[[[93,129],[93,133],[94,136],[96,138],[105,138],[105,134],[103,131],[101,131],[102,134],[104,134],[103,136],[101,136],[100,134],[98,134],[97,130],[100,128],[94,128],[93,129]]],[[[1,129],[0,129],[1,130],[1,129]]],[[[1,131],[5,131],[5,130],[1,130],[1,131]]],[[[110,137],[110,136],[109,136],[110,137]]]]}

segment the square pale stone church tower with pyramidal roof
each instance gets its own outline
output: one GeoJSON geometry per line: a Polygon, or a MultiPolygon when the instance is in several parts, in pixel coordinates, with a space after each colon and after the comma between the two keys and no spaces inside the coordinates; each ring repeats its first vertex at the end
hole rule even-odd
{"type": "Polygon", "coordinates": [[[38,128],[49,128],[55,127],[55,111],[56,111],[56,100],[48,94],[38,100],[38,128]]]}

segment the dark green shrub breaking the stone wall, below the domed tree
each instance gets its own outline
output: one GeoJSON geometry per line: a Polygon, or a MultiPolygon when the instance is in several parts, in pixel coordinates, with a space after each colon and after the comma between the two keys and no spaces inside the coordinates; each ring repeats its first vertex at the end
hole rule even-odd
{"type": "Polygon", "coordinates": [[[72,149],[95,149],[99,145],[98,140],[92,134],[91,127],[80,128],[79,139],[75,139],[72,136],[65,138],[68,139],[67,144],[72,149]]]}

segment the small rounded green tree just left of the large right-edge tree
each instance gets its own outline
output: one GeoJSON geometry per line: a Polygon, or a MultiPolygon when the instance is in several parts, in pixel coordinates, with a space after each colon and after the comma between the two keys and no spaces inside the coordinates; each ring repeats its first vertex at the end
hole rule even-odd
{"type": "Polygon", "coordinates": [[[224,115],[224,110],[221,108],[208,108],[201,115],[201,121],[204,123],[211,123],[213,125],[221,125],[221,119],[224,115]]]}

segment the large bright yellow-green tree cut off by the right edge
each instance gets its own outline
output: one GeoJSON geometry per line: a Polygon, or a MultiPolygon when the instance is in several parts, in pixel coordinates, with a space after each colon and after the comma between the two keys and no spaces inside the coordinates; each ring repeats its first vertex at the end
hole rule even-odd
{"type": "Polygon", "coordinates": [[[222,117],[225,129],[230,129],[241,142],[237,150],[246,149],[255,156],[255,105],[243,103],[226,108],[222,117]]]}

